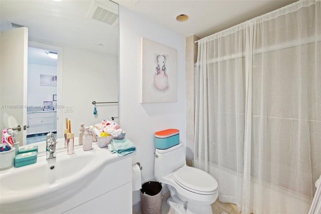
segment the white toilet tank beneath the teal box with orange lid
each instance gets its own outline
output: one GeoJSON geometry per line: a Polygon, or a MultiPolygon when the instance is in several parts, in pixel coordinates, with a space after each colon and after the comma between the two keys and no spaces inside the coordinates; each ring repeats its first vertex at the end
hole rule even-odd
{"type": "Polygon", "coordinates": [[[162,182],[162,177],[171,174],[182,166],[186,166],[183,143],[168,149],[155,150],[154,176],[162,182]]]}

